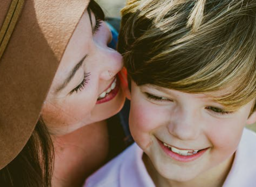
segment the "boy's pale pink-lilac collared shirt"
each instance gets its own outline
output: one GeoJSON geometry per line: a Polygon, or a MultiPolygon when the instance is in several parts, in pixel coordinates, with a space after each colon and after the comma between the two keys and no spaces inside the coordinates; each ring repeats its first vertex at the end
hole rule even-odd
{"type": "MultiPolygon", "coordinates": [[[[156,187],[142,161],[136,143],[100,168],[84,187],[156,187]]],[[[245,129],[223,187],[256,186],[256,134],[245,129]]]]}

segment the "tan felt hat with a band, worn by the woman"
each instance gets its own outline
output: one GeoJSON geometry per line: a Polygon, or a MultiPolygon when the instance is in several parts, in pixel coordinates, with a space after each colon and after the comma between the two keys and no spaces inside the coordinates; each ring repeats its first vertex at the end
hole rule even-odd
{"type": "Polygon", "coordinates": [[[36,126],[59,61],[89,0],[4,0],[0,6],[0,169],[36,126]]]}

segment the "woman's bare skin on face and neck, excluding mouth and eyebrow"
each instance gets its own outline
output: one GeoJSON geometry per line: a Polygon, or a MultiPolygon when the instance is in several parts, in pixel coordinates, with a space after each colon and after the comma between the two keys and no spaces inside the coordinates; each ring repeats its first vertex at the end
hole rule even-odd
{"type": "Polygon", "coordinates": [[[55,187],[81,186],[85,178],[105,162],[109,148],[105,120],[118,113],[125,100],[119,89],[112,100],[96,103],[117,77],[123,63],[122,56],[107,47],[112,36],[106,24],[101,22],[98,31],[95,25],[95,15],[91,12],[90,20],[86,10],[60,61],[42,110],[55,147],[52,182],[55,187]],[[85,56],[69,84],[58,91],[85,56]],[[74,91],[85,73],[86,84],[74,91]]]}

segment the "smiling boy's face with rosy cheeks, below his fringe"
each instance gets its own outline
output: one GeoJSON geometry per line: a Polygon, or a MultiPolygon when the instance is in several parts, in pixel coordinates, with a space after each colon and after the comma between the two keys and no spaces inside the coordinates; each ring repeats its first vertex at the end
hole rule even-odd
{"type": "Polygon", "coordinates": [[[131,91],[132,136],[158,174],[173,181],[230,167],[245,124],[255,121],[254,113],[248,117],[253,101],[226,113],[205,94],[134,82],[131,91]]]}

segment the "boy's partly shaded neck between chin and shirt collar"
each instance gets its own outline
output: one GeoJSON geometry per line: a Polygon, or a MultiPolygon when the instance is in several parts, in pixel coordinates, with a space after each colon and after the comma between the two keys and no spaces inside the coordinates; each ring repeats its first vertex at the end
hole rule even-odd
{"type": "Polygon", "coordinates": [[[208,170],[207,172],[204,172],[191,181],[177,182],[161,176],[154,168],[150,158],[145,153],[143,154],[143,162],[156,187],[221,187],[223,186],[225,179],[230,172],[233,160],[234,154],[225,162],[219,164],[217,167],[211,170],[208,170]]]}

